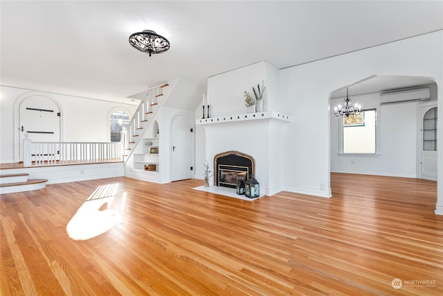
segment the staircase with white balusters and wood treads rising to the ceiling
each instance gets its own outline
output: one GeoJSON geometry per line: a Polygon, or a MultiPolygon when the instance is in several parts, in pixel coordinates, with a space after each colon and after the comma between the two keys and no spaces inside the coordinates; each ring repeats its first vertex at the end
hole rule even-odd
{"type": "Polygon", "coordinates": [[[133,153],[134,147],[137,145],[138,141],[141,140],[143,131],[152,121],[154,121],[156,112],[161,105],[163,105],[163,102],[165,102],[165,99],[170,93],[170,89],[173,87],[174,85],[171,87],[169,83],[163,83],[147,89],[145,97],[141,100],[137,110],[134,112],[134,116],[132,116],[132,119],[129,121],[129,124],[123,133],[125,162],[133,153]]]}

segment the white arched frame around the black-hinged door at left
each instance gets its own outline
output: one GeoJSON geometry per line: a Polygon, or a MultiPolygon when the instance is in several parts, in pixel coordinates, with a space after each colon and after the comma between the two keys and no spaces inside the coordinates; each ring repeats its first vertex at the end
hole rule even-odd
{"type": "Polygon", "coordinates": [[[13,123],[13,135],[14,135],[14,142],[12,143],[12,149],[14,151],[14,162],[19,162],[20,161],[20,127],[19,127],[19,120],[20,120],[20,104],[21,102],[23,102],[24,100],[26,100],[26,98],[30,97],[30,96],[44,96],[46,98],[49,98],[51,101],[53,101],[57,107],[60,110],[60,141],[63,141],[63,120],[62,117],[64,115],[63,110],[62,110],[62,105],[60,105],[60,103],[50,94],[46,93],[46,92],[27,92],[26,94],[21,94],[21,96],[19,96],[14,103],[14,123],[13,123]]]}

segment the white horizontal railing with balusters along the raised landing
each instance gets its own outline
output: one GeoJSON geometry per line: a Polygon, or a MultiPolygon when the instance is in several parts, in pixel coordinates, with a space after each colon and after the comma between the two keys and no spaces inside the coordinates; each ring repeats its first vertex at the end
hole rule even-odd
{"type": "Polygon", "coordinates": [[[60,166],[123,162],[123,142],[33,142],[23,140],[23,162],[29,166],[60,166]]]}

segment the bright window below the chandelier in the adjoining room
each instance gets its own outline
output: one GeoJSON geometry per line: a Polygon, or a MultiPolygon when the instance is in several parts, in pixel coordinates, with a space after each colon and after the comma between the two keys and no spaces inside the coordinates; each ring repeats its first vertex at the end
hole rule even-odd
{"type": "Polygon", "coordinates": [[[375,110],[343,116],[343,153],[375,154],[375,110]]]}

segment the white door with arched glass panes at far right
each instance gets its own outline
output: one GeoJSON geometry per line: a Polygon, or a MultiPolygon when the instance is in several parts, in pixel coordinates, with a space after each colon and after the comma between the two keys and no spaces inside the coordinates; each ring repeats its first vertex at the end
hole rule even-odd
{"type": "Polygon", "coordinates": [[[437,181],[437,104],[420,110],[419,178],[437,181]]]}

